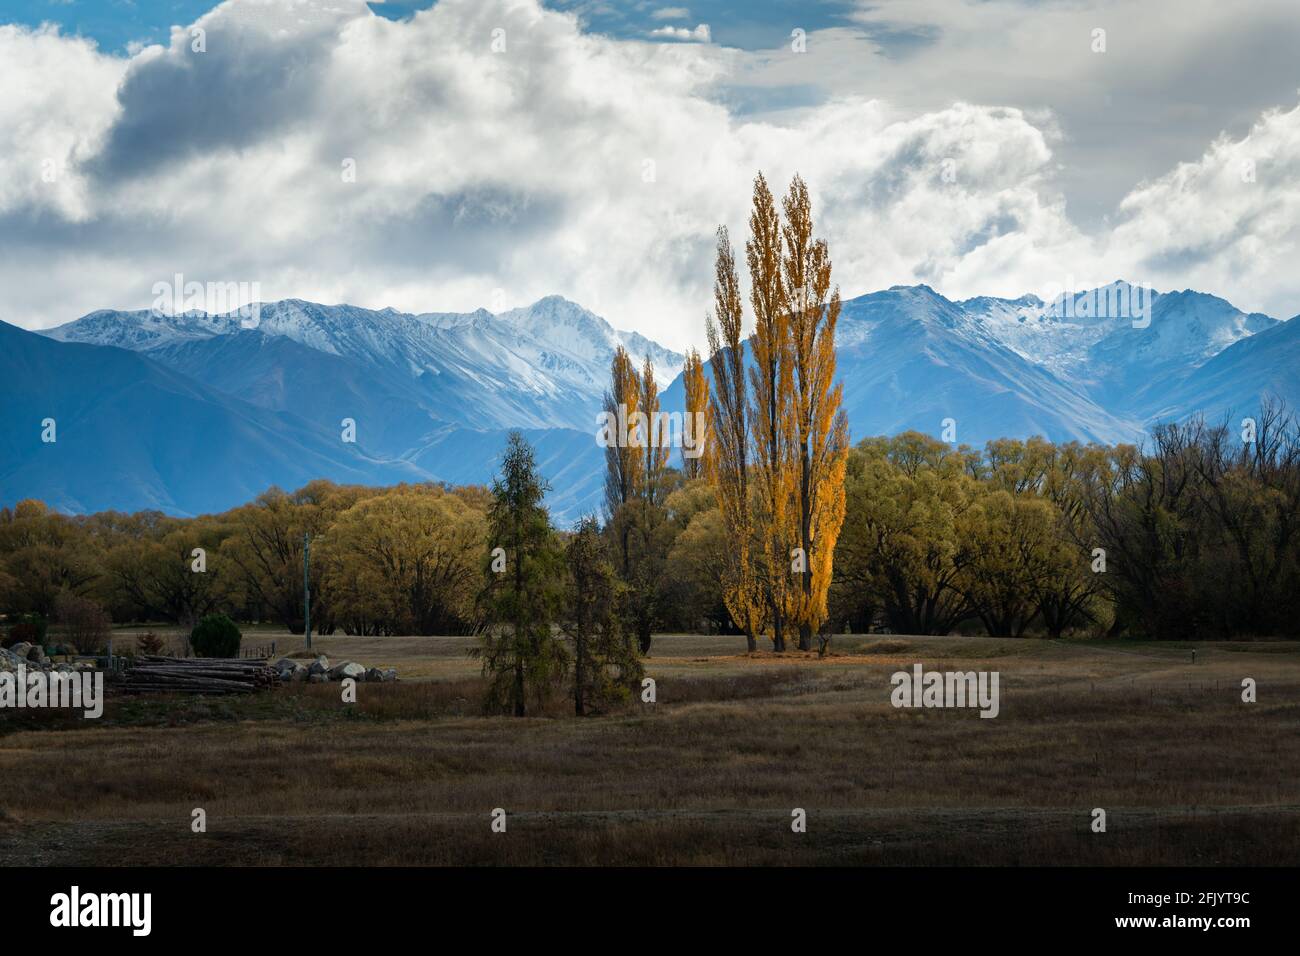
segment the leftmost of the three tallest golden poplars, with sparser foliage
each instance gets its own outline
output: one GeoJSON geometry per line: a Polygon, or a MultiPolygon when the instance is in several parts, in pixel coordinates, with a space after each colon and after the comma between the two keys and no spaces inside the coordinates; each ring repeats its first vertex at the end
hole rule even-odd
{"type": "Polygon", "coordinates": [[[710,446],[706,476],[718,497],[731,548],[723,568],[723,601],[732,620],[745,632],[750,652],[763,630],[763,609],[757,596],[751,562],[754,535],[749,488],[749,397],[745,382],[744,306],[736,256],[727,228],[718,229],[714,267],[714,315],[707,319],[708,365],[714,373],[710,397],[710,446]],[[716,316],[716,321],[715,321],[716,316]]]}

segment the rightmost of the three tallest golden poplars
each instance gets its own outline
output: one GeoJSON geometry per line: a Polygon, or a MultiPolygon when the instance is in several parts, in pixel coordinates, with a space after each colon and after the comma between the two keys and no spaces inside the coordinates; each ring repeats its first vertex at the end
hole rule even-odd
{"type": "Polygon", "coordinates": [[[800,559],[794,620],[800,649],[810,650],[812,633],[826,619],[835,542],[844,524],[844,475],[849,427],[835,384],[835,326],[840,290],[831,289],[831,254],[812,238],[812,204],[798,176],[783,202],[783,291],[789,313],[793,365],[796,519],[800,559]]]}

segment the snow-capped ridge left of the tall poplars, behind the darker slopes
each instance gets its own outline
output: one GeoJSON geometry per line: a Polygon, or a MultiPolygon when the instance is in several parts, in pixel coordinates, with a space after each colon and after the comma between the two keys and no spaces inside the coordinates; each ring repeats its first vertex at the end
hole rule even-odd
{"type": "Polygon", "coordinates": [[[682,364],[681,355],[558,295],[500,315],[411,315],[285,299],[261,304],[256,326],[244,328],[250,324],[238,313],[100,311],[44,334],[143,351],[178,371],[204,365],[209,376],[230,367],[230,355],[220,364],[207,359],[229,351],[230,337],[259,350],[261,339],[248,333],[289,339],[367,368],[436,420],[472,428],[592,428],[620,345],[638,360],[649,355],[663,384],[682,364]]]}

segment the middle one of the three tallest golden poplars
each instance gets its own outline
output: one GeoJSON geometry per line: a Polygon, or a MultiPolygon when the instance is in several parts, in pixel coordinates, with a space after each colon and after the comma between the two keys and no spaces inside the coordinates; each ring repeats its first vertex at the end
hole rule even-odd
{"type": "Polygon", "coordinates": [[[754,365],[750,377],[750,429],[754,441],[757,518],[763,559],[759,583],[767,601],[772,645],[785,650],[785,628],[796,617],[798,592],[790,572],[796,518],[796,415],[793,402],[794,349],[783,274],[780,215],[767,179],[754,179],[754,207],[745,243],[749,263],[754,365]]]}

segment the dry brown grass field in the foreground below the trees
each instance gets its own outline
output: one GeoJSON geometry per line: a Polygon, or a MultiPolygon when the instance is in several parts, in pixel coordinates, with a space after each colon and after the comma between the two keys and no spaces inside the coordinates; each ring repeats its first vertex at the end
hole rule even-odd
{"type": "Polygon", "coordinates": [[[403,680],[0,713],[0,862],[1300,862],[1300,644],[864,636],[819,659],[670,635],[658,702],[585,719],[482,717],[468,639],[315,646],[403,680]],[[892,708],[915,662],[997,670],[1001,714],[892,708]]]}

